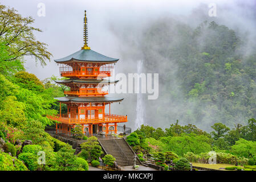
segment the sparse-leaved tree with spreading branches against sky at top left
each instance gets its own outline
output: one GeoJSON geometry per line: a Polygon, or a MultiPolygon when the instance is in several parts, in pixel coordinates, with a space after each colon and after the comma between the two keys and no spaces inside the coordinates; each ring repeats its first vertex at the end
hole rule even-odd
{"type": "Polygon", "coordinates": [[[9,47],[9,57],[5,61],[22,59],[23,56],[32,56],[40,64],[46,65],[50,61],[51,53],[47,51],[46,43],[35,39],[34,31],[41,32],[39,28],[31,26],[34,19],[31,16],[23,18],[13,8],[0,5],[0,40],[9,47]]]}

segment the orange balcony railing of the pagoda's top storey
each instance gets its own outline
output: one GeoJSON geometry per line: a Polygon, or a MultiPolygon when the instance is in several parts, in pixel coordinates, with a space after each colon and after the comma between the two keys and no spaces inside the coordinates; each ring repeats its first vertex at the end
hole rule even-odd
{"type": "Polygon", "coordinates": [[[63,77],[110,77],[111,71],[97,71],[97,72],[82,72],[82,71],[60,71],[63,77]]]}

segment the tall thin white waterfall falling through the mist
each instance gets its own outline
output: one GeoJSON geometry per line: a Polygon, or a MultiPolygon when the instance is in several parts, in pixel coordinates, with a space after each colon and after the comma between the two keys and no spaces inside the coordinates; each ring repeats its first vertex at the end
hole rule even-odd
{"type": "MultiPolygon", "coordinates": [[[[137,63],[137,73],[142,73],[143,68],[143,61],[139,60],[137,63]]],[[[144,124],[144,105],[143,105],[143,95],[140,92],[137,93],[137,106],[136,106],[136,120],[135,120],[135,126],[136,129],[138,129],[141,125],[144,124]]]]}

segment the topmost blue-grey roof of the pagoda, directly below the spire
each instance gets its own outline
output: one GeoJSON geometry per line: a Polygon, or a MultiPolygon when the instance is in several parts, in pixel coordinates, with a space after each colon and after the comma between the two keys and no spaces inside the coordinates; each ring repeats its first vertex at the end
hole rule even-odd
{"type": "Polygon", "coordinates": [[[112,57],[101,55],[100,53],[97,53],[95,51],[92,51],[91,49],[82,49],[80,51],[77,51],[75,53],[72,53],[72,55],[69,55],[67,57],[63,57],[62,59],[54,60],[56,63],[68,63],[73,61],[78,62],[94,62],[94,63],[116,63],[119,59],[115,59],[112,57]]]}

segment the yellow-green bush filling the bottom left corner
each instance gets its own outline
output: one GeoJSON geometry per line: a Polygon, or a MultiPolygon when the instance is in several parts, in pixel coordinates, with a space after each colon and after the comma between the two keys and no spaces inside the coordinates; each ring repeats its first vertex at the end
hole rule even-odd
{"type": "Polygon", "coordinates": [[[27,171],[27,167],[21,160],[11,157],[9,154],[0,153],[0,171],[27,171]]]}

